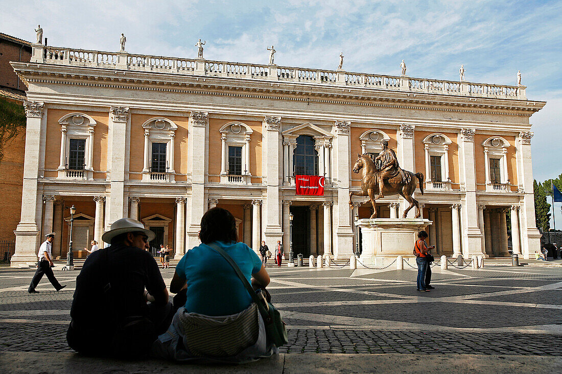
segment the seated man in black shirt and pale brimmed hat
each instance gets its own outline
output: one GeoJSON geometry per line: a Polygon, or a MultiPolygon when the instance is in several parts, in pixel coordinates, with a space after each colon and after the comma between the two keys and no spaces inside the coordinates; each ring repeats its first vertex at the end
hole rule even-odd
{"type": "Polygon", "coordinates": [[[88,256],[76,278],[66,339],[88,355],[141,357],[170,326],[174,311],[160,269],[147,252],[154,232],[132,218],[111,225],[111,246],[88,256]]]}

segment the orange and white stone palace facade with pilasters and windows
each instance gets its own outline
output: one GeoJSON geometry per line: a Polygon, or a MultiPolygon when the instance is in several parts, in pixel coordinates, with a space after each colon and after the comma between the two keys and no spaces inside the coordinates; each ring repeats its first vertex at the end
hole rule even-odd
{"type": "MultiPolygon", "coordinates": [[[[292,213],[295,253],[350,257],[352,217],[371,215],[364,200],[348,204],[361,183],[352,166],[382,139],[401,167],[424,174],[415,197],[439,254],[507,256],[506,220],[515,253],[538,249],[529,117],[545,103],[524,86],[39,44],[12,66],[29,87],[12,266],[33,261],[51,231],[65,257],[72,205],[76,249],[129,216],[181,257],[219,206],[255,250],[282,240],[288,252],[292,213]],[[324,176],[324,195],[296,195],[299,174],[324,176]]],[[[401,216],[404,201],[377,209],[401,216]]]]}

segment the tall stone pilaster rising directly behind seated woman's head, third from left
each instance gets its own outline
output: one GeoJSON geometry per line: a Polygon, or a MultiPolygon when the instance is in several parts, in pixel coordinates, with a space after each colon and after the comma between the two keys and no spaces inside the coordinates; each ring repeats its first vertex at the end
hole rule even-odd
{"type": "Polygon", "coordinates": [[[206,211],[205,201],[205,167],[207,165],[208,144],[206,138],[209,126],[209,113],[191,112],[189,115],[188,130],[191,136],[187,138],[187,169],[191,174],[191,198],[187,208],[187,248],[199,245],[199,230],[201,230],[201,217],[206,211]]]}

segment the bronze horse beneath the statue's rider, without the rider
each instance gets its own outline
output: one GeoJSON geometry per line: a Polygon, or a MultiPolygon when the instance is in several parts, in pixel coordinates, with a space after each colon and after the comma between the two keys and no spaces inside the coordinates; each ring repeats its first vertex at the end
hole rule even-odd
{"type": "MultiPolygon", "coordinates": [[[[361,169],[363,170],[361,174],[361,192],[350,192],[350,205],[352,204],[351,197],[353,195],[368,196],[371,200],[371,204],[373,205],[374,210],[371,218],[377,218],[377,206],[375,206],[375,197],[379,195],[379,168],[377,167],[377,165],[375,165],[373,159],[371,159],[371,156],[368,153],[357,154],[357,161],[355,161],[355,165],[353,165],[353,172],[359,173],[361,169]]],[[[404,181],[400,181],[398,183],[388,183],[388,180],[384,181],[384,188],[382,193],[384,196],[392,196],[398,194],[410,203],[410,206],[404,211],[404,215],[402,216],[402,218],[406,218],[408,211],[410,211],[410,209],[414,206],[416,207],[415,218],[419,218],[421,216],[420,206],[418,200],[414,199],[412,197],[412,194],[414,193],[416,184],[419,181],[420,191],[422,191],[423,195],[423,174],[414,174],[413,172],[406,170],[404,170],[404,172],[410,175],[410,183],[405,184],[404,181]]]]}

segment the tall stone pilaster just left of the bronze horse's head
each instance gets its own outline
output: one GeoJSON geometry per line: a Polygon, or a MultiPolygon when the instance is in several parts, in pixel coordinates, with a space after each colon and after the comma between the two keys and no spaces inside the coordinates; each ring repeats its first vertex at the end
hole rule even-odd
{"type": "Polygon", "coordinates": [[[336,121],[336,170],[338,180],[338,196],[337,202],[333,207],[334,230],[336,231],[336,243],[334,243],[333,254],[336,258],[349,258],[353,256],[354,248],[350,246],[353,243],[355,232],[351,226],[352,217],[349,206],[350,196],[350,131],[351,122],[336,121]]]}

